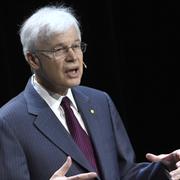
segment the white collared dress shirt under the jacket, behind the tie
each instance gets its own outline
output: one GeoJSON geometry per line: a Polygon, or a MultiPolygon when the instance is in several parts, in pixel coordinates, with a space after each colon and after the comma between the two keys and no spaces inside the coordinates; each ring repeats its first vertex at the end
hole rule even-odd
{"type": "MultiPolygon", "coordinates": [[[[69,132],[67,124],[66,124],[66,119],[65,119],[65,114],[63,108],[60,106],[62,98],[64,96],[61,96],[57,93],[49,92],[47,91],[41,84],[39,84],[36,80],[35,75],[33,74],[31,77],[31,83],[34,87],[34,89],[37,91],[37,93],[46,101],[48,106],[51,108],[51,110],[54,112],[54,114],[57,116],[59,121],[62,123],[62,125],[65,127],[65,129],[69,132]]],[[[66,96],[71,100],[71,108],[81,125],[81,127],[85,130],[87,133],[87,130],[85,128],[84,122],[82,120],[81,115],[78,112],[76,102],[74,100],[74,97],[72,95],[72,91],[69,88],[66,96]]]]}

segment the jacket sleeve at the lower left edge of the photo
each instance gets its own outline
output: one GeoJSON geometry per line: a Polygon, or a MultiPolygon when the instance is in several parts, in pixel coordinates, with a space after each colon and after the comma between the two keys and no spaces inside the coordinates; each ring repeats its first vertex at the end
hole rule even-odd
{"type": "Polygon", "coordinates": [[[21,145],[2,118],[0,119],[0,179],[30,180],[21,145]]]}

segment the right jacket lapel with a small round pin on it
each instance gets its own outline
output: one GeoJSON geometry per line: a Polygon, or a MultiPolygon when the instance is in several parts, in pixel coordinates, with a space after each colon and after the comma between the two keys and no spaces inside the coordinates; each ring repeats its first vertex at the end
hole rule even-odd
{"type": "Polygon", "coordinates": [[[102,118],[100,119],[99,113],[102,114],[102,111],[99,110],[98,106],[91,102],[91,99],[88,96],[82,94],[80,91],[76,90],[76,88],[73,89],[73,94],[79,112],[93,142],[97,157],[99,157],[98,163],[100,169],[104,171],[107,162],[104,159],[104,141],[103,134],[100,131],[102,125],[100,121],[102,121],[102,118]]]}

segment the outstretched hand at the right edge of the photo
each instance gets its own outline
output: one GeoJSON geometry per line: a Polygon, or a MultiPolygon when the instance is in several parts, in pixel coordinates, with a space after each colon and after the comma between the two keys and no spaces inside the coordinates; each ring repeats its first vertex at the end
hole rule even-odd
{"type": "Polygon", "coordinates": [[[172,180],[180,179],[180,149],[170,154],[154,155],[148,153],[146,158],[151,162],[161,161],[169,169],[172,180]]]}

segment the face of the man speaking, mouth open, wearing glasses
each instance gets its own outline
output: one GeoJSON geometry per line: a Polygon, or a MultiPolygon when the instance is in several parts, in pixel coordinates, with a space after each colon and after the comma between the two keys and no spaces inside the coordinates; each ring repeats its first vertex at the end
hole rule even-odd
{"type": "Polygon", "coordinates": [[[80,38],[74,27],[51,36],[38,49],[55,49],[56,52],[38,52],[38,82],[50,91],[65,94],[68,88],[79,85],[83,74],[83,53],[79,47],[80,38]],[[72,47],[72,48],[70,48],[72,47]]]}

